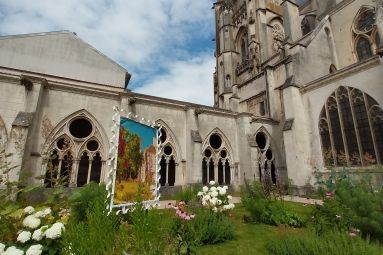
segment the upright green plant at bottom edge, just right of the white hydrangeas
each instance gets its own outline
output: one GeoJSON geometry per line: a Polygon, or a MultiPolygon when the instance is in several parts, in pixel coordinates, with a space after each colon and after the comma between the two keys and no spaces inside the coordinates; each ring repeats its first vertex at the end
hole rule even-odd
{"type": "MultiPolygon", "coordinates": [[[[115,214],[107,214],[105,202],[90,201],[80,222],[70,220],[63,239],[63,254],[122,254],[126,248],[126,230],[119,227],[115,214]]],[[[77,217],[77,216],[76,216],[77,217]]]]}

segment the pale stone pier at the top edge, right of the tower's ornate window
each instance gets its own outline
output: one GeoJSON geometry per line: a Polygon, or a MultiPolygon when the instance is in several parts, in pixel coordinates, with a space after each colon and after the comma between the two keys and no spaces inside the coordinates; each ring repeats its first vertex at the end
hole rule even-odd
{"type": "Polygon", "coordinates": [[[284,0],[281,6],[283,8],[285,34],[289,37],[289,41],[296,41],[302,37],[299,6],[294,0],[284,0]]]}

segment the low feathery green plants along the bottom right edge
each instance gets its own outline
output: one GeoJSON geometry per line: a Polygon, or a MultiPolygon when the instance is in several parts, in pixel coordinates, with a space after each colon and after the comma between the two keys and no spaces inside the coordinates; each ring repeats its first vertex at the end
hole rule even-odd
{"type": "Polygon", "coordinates": [[[338,232],[321,237],[305,234],[274,238],[266,247],[271,255],[379,255],[383,252],[377,245],[338,232]]]}

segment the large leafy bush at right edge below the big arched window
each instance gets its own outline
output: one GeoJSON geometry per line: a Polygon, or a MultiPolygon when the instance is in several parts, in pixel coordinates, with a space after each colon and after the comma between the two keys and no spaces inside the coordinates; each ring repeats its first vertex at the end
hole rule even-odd
{"type": "Polygon", "coordinates": [[[331,181],[322,181],[327,191],[322,207],[314,211],[312,223],[317,233],[330,230],[360,230],[363,237],[383,242],[383,190],[368,178],[352,180],[347,172],[332,171],[331,181]]]}

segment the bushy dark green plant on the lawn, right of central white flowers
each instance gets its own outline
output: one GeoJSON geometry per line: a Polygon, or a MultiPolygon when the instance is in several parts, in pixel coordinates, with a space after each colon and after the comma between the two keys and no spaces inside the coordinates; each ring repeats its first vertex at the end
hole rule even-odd
{"type": "Polygon", "coordinates": [[[297,214],[285,207],[283,200],[267,195],[257,182],[252,185],[246,183],[242,187],[241,200],[250,214],[245,216],[246,221],[276,226],[287,224],[292,227],[303,227],[304,225],[303,220],[297,214]]]}

